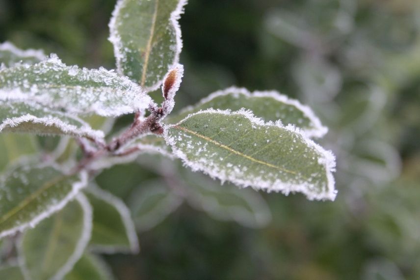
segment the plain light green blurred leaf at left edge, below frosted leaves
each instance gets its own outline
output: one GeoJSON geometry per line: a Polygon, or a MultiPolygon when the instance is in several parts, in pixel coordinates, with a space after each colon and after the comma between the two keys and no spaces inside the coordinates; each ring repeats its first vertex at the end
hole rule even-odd
{"type": "Polygon", "coordinates": [[[36,153],[38,148],[33,135],[0,133],[0,171],[23,155],[36,153]]]}

